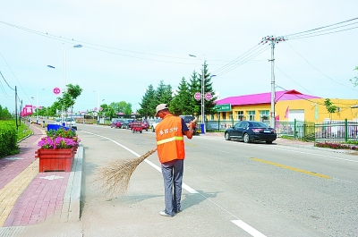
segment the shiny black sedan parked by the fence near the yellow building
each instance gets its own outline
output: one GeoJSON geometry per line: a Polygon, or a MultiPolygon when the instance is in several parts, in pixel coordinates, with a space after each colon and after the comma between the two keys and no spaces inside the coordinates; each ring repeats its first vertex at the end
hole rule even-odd
{"type": "Polygon", "coordinates": [[[254,140],[265,141],[271,144],[277,139],[277,132],[270,128],[268,124],[257,121],[240,121],[233,127],[226,129],[226,140],[243,140],[249,143],[254,140]]]}

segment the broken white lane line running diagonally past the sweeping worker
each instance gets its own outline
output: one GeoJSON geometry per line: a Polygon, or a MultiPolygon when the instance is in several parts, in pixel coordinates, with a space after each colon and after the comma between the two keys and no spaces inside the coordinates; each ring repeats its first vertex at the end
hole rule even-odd
{"type": "MultiPolygon", "coordinates": [[[[98,137],[101,137],[101,138],[104,138],[104,139],[107,139],[107,140],[110,140],[110,141],[114,142],[115,144],[117,144],[118,146],[120,146],[121,148],[124,148],[124,149],[128,150],[129,152],[131,152],[134,156],[141,157],[141,155],[139,155],[138,153],[134,152],[132,149],[124,147],[124,145],[116,142],[115,140],[111,140],[111,139],[109,139],[107,137],[104,137],[104,136],[101,136],[101,135],[98,135],[98,134],[95,134],[95,133],[92,133],[92,132],[89,132],[89,131],[83,131],[83,132],[89,133],[89,134],[92,134],[94,136],[98,136],[98,137]]],[[[161,168],[158,165],[154,165],[152,162],[150,162],[147,159],[145,159],[144,161],[147,162],[150,166],[154,167],[156,170],[158,170],[158,172],[160,172],[160,173],[162,172],[161,168]]],[[[200,194],[202,197],[204,197],[205,199],[209,200],[211,203],[215,204],[217,207],[220,207],[222,210],[224,210],[230,216],[234,216],[234,214],[232,214],[231,212],[226,210],[224,207],[221,207],[216,202],[214,202],[213,200],[205,197],[204,195],[199,193],[197,190],[192,189],[190,186],[186,185],[185,183],[183,183],[183,189],[187,190],[190,193],[198,193],[198,194],[200,194]]],[[[236,216],[234,216],[234,217],[237,218],[236,216]]],[[[242,220],[234,220],[234,221],[231,221],[231,222],[233,222],[234,224],[236,224],[237,226],[242,228],[243,231],[245,231],[247,233],[250,233],[254,237],[266,237],[266,235],[260,233],[259,231],[257,231],[253,227],[251,227],[251,225],[244,223],[242,220]]]]}

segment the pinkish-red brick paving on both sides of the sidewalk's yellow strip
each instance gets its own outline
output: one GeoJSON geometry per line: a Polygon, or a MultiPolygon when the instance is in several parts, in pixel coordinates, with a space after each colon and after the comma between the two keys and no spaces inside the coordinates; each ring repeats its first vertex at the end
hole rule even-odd
{"type": "MultiPolygon", "coordinates": [[[[19,143],[20,154],[0,159],[0,190],[36,160],[38,140],[46,133],[45,129],[36,124],[31,124],[30,129],[33,134],[19,143]]],[[[14,203],[3,226],[37,224],[46,220],[52,221],[54,216],[57,221],[63,218],[61,215],[65,210],[64,195],[69,176],[70,173],[66,172],[38,173],[14,203]]],[[[12,197],[5,197],[7,198],[12,197]]]]}

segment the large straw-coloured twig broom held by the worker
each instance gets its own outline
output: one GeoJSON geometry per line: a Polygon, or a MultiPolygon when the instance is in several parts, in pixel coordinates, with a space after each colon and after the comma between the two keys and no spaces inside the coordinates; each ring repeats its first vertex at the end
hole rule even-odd
{"type": "Polygon", "coordinates": [[[115,160],[98,171],[97,182],[107,190],[107,194],[123,194],[128,189],[129,182],[134,170],[141,162],[156,152],[157,148],[149,150],[141,157],[134,159],[115,160]]]}

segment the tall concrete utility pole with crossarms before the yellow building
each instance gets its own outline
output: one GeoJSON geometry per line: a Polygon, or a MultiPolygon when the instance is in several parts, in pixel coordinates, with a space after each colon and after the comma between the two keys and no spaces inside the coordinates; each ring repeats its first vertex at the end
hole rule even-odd
{"type": "Polygon", "coordinates": [[[271,60],[268,60],[271,62],[271,112],[270,112],[270,116],[269,116],[269,124],[270,127],[275,129],[275,56],[274,56],[274,49],[275,49],[275,44],[280,41],[285,41],[285,38],[283,37],[273,37],[273,36],[267,36],[262,38],[260,44],[266,44],[268,43],[268,41],[271,42],[271,60]]]}

